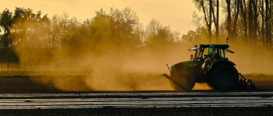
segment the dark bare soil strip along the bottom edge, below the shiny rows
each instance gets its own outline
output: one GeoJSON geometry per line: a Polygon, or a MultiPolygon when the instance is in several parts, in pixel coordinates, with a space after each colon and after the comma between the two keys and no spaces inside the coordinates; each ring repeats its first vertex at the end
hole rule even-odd
{"type": "Polygon", "coordinates": [[[273,107],[0,109],[0,115],[272,115],[273,107]]]}

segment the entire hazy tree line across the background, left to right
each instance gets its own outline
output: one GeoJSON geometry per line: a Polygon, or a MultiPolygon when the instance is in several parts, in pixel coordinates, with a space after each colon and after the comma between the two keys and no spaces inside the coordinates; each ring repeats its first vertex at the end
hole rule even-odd
{"type": "MultiPolygon", "coordinates": [[[[83,21],[69,18],[68,14],[48,17],[30,8],[16,7],[14,12],[5,9],[0,12],[0,59],[44,65],[40,61],[56,63],[85,54],[119,55],[148,50],[159,57],[164,53],[172,56],[177,50],[195,44],[225,44],[226,36],[231,47],[245,52],[238,54],[238,59],[248,56],[242,63],[252,64],[259,56],[272,57],[272,0],[193,3],[197,8],[192,20],[196,30],[182,36],[155,19],[143,26],[136,12],[128,7],[110,8],[108,13],[101,9],[95,12],[95,17],[83,21]]],[[[261,62],[265,64],[266,60],[261,62]]]]}

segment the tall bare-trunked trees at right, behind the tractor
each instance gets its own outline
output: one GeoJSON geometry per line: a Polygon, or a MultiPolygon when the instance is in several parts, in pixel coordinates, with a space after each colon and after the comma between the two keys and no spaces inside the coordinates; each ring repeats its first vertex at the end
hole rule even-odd
{"type": "MultiPolygon", "coordinates": [[[[198,12],[193,14],[193,24],[197,26],[183,39],[190,36],[206,35],[208,43],[222,43],[219,38],[229,37],[231,44],[247,44],[272,49],[273,1],[272,0],[193,0],[198,12]],[[223,19],[219,18],[219,12],[223,19]],[[220,20],[220,23],[219,23],[220,20]],[[200,33],[206,32],[206,33],[200,33]],[[215,38],[212,39],[212,38],[215,38]]],[[[193,41],[193,40],[192,40],[193,41]]]]}

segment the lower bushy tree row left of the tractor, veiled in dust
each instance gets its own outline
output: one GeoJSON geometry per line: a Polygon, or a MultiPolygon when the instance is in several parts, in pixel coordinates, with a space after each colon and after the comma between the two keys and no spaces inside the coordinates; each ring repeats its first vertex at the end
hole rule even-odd
{"type": "Polygon", "coordinates": [[[83,21],[67,14],[42,15],[41,11],[16,7],[0,13],[0,58],[13,62],[40,64],[58,62],[86,53],[130,53],[139,49],[157,51],[179,39],[179,33],[159,21],[144,28],[135,11],[110,8],[83,21]]]}

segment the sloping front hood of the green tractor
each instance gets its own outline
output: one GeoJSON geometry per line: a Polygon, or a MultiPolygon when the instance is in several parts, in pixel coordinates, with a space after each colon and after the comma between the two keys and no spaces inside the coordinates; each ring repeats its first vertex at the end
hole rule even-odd
{"type": "Polygon", "coordinates": [[[185,61],[185,62],[180,62],[180,63],[177,63],[177,64],[171,66],[171,71],[173,73],[176,73],[177,71],[181,70],[182,68],[192,69],[192,68],[196,68],[198,66],[199,66],[199,61],[197,61],[197,60],[185,61]]]}

